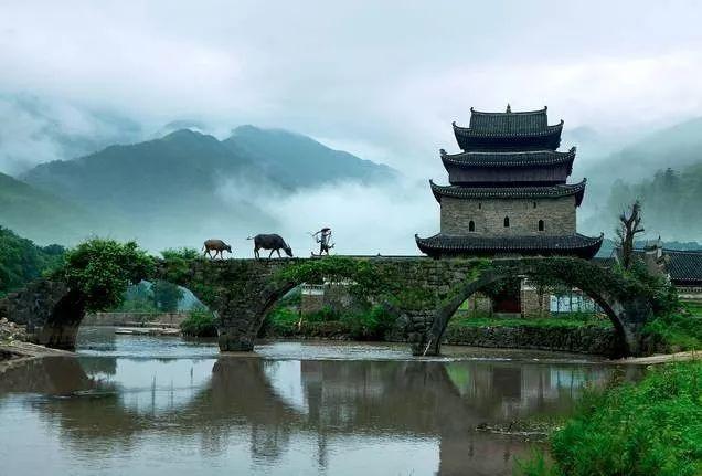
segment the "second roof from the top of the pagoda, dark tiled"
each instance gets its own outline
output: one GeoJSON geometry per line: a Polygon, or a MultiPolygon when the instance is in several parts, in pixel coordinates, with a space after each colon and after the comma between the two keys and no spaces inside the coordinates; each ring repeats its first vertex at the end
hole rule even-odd
{"type": "MultiPolygon", "coordinates": [[[[459,167],[532,167],[532,166],[555,166],[568,163],[573,166],[575,160],[575,147],[567,152],[554,150],[529,150],[529,151],[468,151],[459,154],[446,154],[440,149],[444,166],[459,167]]],[[[570,171],[570,169],[568,169],[570,171]]]]}

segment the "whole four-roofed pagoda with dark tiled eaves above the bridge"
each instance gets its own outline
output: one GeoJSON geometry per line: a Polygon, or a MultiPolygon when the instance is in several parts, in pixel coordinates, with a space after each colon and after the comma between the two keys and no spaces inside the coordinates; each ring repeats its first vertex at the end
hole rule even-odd
{"type": "Polygon", "coordinates": [[[470,126],[454,123],[459,154],[440,150],[448,186],[429,181],[442,209],[440,233],[415,236],[423,253],[450,256],[593,257],[603,236],[576,231],[585,180],[566,183],[575,147],[557,151],[563,120],[541,110],[481,113],[470,126]]]}

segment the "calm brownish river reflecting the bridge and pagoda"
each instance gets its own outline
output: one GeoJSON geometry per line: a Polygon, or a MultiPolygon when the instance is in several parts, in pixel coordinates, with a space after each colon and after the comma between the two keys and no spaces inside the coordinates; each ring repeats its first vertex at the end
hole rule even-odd
{"type": "Polygon", "coordinates": [[[532,351],[415,359],[403,345],[222,356],[105,328],[78,346],[0,373],[1,475],[511,475],[540,443],[486,424],[564,416],[585,385],[641,372],[532,351]]]}

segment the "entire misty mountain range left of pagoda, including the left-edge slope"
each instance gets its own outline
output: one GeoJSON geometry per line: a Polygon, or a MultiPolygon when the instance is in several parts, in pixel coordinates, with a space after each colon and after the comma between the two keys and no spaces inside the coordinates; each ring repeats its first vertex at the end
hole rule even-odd
{"type": "MultiPolygon", "coordinates": [[[[216,232],[220,221],[270,230],[262,199],[353,181],[387,182],[390,167],[280,129],[242,126],[225,140],[181,129],[73,160],[0,176],[0,221],[40,243],[91,233],[119,239],[216,232]]],[[[153,245],[157,245],[156,243],[153,245]]]]}

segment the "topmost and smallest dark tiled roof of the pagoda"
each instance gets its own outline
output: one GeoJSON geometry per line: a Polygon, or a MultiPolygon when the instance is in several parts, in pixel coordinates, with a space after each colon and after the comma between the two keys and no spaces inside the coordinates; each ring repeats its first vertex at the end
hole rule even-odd
{"type": "MultiPolygon", "coordinates": [[[[504,113],[485,113],[470,108],[469,127],[457,126],[453,123],[454,135],[461,149],[474,148],[471,139],[518,139],[540,138],[553,136],[552,140],[544,144],[555,144],[557,148],[563,130],[563,120],[549,125],[547,107],[539,110],[524,110],[512,113],[509,105],[504,113]]],[[[542,140],[543,142],[543,140],[542,140]]],[[[478,144],[476,147],[480,148],[478,144]]]]}

